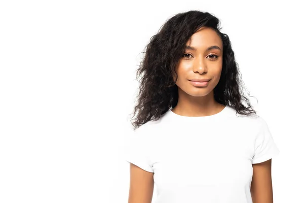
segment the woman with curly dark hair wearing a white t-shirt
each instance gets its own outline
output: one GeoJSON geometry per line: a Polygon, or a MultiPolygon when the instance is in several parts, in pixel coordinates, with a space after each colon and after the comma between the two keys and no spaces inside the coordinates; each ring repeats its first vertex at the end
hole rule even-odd
{"type": "Polygon", "coordinates": [[[242,93],[219,23],[207,12],[179,13],[147,45],[125,155],[129,203],[150,203],[154,184],[157,203],[273,202],[279,149],[242,93]]]}

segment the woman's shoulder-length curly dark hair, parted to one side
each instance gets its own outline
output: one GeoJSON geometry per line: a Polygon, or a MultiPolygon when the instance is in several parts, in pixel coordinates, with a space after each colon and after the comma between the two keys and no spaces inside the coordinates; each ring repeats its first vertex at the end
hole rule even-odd
{"type": "Polygon", "coordinates": [[[144,57],[136,72],[136,79],[141,75],[142,77],[132,118],[136,112],[138,115],[134,122],[134,119],[131,120],[134,129],[150,120],[158,120],[177,105],[176,66],[185,51],[187,41],[203,26],[215,30],[223,43],[222,72],[214,88],[214,99],[222,105],[234,108],[239,114],[256,115],[249,99],[243,94],[244,87],[235,54],[229,37],[220,32],[219,19],[208,12],[193,10],[178,13],[168,19],[158,33],[150,38],[142,52],[144,57]]]}

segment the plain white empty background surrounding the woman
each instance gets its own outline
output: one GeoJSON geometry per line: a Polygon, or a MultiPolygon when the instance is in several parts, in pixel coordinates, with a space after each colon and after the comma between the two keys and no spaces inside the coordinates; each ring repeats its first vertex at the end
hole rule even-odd
{"type": "MultiPolygon", "coordinates": [[[[127,202],[141,52],[173,15],[214,14],[270,127],[274,202],[304,202],[300,1],[2,1],[0,202],[127,202]]],[[[153,202],[155,202],[156,193],[153,202]]]]}

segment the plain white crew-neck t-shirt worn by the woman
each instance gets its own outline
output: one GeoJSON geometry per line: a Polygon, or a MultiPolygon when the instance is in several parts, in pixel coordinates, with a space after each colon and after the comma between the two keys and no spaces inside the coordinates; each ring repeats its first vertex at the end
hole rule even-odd
{"type": "Polygon", "coordinates": [[[130,133],[124,158],[154,173],[156,203],[252,203],[252,163],[279,154],[260,116],[229,106],[202,117],[169,110],[130,133]]]}

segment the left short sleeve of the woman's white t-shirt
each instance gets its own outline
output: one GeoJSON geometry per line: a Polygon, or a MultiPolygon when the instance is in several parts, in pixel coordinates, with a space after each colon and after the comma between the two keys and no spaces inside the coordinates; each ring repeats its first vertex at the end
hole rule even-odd
{"type": "Polygon", "coordinates": [[[127,162],[154,173],[149,154],[150,142],[146,134],[138,133],[136,130],[127,134],[124,149],[124,159],[127,162]]]}

